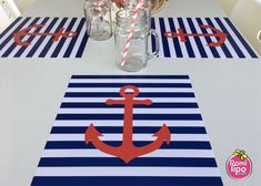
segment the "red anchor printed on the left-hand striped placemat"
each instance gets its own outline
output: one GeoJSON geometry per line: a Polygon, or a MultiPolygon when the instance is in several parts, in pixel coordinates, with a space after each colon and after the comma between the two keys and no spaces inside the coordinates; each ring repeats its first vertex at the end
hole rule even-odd
{"type": "Polygon", "coordinates": [[[64,28],[61,28],[58,32],[56,33],[29,33],[27,31],[31,30],[31,29],[38,29],[38,28],[42,28],[44,27],[44,24],[33,24],[31,27],[28,27],[28,28],[24,28],[22,30],[20,30],[19,32],[16,32],[13,33],[13,37],[14,37],[14,42],[18,44],[18,45],[23,45],[23,46],[27,46],[27,45],[30,45],[31,43],[27,42],[27,41],[22,41],[22,37],[24,35],[52,35],[53,39],[52,41],[56,42],[56,41],[59,41],[60,38],[72,38],[72,37],[76,37],[77,35],[77,32],[73,32],[73,31],[69,31],[69,32],[64,32],[64,28]]]}

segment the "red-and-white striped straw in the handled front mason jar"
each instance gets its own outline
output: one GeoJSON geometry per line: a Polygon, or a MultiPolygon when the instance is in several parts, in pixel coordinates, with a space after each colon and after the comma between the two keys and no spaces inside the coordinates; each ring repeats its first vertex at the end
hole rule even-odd
{"type": "Polygon", "coordinates": [[[137,2],[138,2],[138,4],[134,8],[133,18],[131,20],[131,28],[130,28],[130,31],[129,31],[129,35],[126,40],[126,46],[124,46],[123,54],[122,54],[122,58],[121,58],[121,64],[120,64],[121,66],[123,66],[126,64],[127,55],[129,53],[129,48],[130,48],[130,43],[131,43],[131,38],[134,33],[137,17],[139,16],[142,7],[143,7],[143,0],[137,0],[137,2]]]}

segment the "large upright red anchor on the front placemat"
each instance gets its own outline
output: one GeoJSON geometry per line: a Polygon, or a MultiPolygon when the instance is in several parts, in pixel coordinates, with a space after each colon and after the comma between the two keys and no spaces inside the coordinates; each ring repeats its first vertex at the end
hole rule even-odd
{"type": "Polygon", "coordinates": [[[165,142],[167,144],[171,141],[171,133],[165,124],[153,135],[157,140],[147,146],[137,147],[133,145],[133,105],[151,105],[151,100],[134,100],[133,97],[139,95],[139,89],[132,85],[127,85],[121,87],[120,95],[124,100],[107,100],[108,105],[124,105],[124,123],[123,123],[123,137],[122,144],[118,147],[109,146],[104,144],[99,136],[102,136],[99,131],[91,124],[86,131],[86,144],[91,142],[96,148],[100,149],[103,153],[117,156],[128,164],[130,161],[138,156],[151,153],[161,147],[165,142]],[[127,90],[132,90],[132,93],[127,93],[127,90]]]}

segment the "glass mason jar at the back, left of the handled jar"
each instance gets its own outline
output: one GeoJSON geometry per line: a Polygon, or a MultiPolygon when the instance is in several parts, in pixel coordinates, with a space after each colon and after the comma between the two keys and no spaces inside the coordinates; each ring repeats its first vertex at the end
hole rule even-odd
{"type": "Polygon", "coordinates": [[[111,38],[111,0],[86,0],[84,14],[90,38],[98,41],[111,38]]]}

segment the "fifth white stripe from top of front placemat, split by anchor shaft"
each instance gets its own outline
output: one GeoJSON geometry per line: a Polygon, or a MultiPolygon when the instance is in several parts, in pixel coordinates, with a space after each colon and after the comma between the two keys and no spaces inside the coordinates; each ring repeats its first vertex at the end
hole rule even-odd
{"type": "MultiPolygon", "coordinates": [[[[93,123],[96,126],[122,126],[122,121],[56,121],[53,126],[88,126],[93,123]]],[[[204,126],[202,121],[134,121],[133,126],[204,126]]]]}

